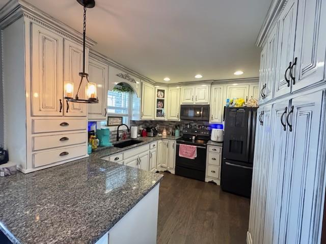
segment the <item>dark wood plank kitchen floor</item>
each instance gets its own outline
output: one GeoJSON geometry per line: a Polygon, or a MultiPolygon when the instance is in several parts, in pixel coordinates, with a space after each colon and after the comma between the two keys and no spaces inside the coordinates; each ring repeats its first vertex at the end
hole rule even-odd
{"type": "Polygon", "coordinates": [[[164,173],[157,244],[246,243],[250,200],[219,186],[164,173]]]}

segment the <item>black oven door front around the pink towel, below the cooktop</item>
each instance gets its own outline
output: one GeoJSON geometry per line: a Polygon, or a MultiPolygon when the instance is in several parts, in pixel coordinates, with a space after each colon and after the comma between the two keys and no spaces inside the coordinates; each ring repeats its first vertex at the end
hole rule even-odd
{"type": "Polygon", "coordinates": [[[187,159],[179,156],[179,145],[177,143],[175,174],[205,181],[206,146],[197,146],[197,157],[187,159]]]}

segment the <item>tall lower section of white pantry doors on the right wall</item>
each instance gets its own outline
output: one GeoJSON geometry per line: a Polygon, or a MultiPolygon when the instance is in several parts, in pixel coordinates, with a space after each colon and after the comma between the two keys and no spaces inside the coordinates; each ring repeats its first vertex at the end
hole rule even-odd
{"type": "Polygon", "coordinates": [[[324,90],[260,107],[247,241],[320,243],[324,90]]]}

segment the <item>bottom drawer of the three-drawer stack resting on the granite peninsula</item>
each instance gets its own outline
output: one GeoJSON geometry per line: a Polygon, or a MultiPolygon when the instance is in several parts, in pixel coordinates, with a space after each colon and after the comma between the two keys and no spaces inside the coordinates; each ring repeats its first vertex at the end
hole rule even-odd
{"type": "Polygon", "coordinates": [[[34,168],[81,157],[87,154],[86,145],[45,151],[33,154],[34,168]]]}

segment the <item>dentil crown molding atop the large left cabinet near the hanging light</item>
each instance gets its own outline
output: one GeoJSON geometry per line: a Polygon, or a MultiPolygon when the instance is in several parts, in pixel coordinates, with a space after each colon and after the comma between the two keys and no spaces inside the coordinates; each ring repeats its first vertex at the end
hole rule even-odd
{"type": "MultiPolygon", "coordinates": [[[[38,24],[41,24],[54,32],[79,44],[83,43],[83,34],[75,29],[53,18],[42,10],[36,8],[24,0],[10,0],[2,9],[0,9],[0,28],[4,29],[17,19],[24,17],[38,24]]],[[[86,45],[92,47],[97,44],[90,38],[86,38],[86,45]]]]}

